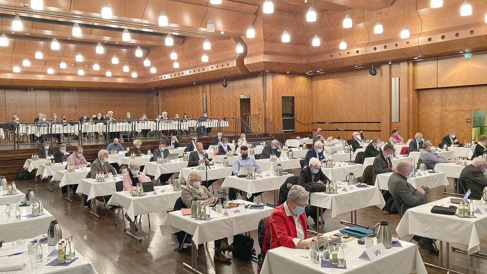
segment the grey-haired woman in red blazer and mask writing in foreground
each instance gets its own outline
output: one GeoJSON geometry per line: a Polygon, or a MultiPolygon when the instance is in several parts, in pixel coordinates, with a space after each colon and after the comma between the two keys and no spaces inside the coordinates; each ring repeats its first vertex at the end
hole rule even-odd
{"type": "Polygon", "coordinates": [[[279,246],[306,248],[308,230],[306,213],[309,195],[304,187],[293,185],[287,194],[287,201],[271,213],[271,249],[279,246]]]}

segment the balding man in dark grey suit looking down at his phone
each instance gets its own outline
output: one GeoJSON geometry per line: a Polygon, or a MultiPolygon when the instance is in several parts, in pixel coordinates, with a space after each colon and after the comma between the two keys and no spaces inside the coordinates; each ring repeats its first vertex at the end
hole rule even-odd
{"type": "MultiPolygon", "coordinates": [[[[412,175],[413,165],[407,161],[401,161],[397,164],[395,172],[389,178],[387,186],[394,199],[394,203],[400,208],[397,209],[402,217],[410,209],[428,203],[425,197],[425,191],[422,187],[415,189],[408,183],[407,178],[412,175]]],[[[428,251],[430,254],[438,255],[438,250],[433,246],[433,240],[414,236],[413,239],[418,242],[420,248],[428,251]]]]}

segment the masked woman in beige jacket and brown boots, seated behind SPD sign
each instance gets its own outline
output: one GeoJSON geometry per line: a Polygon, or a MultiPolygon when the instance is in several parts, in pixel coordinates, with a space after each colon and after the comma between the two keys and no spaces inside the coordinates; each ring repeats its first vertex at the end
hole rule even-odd
{"type": "MultiPolygon", "coordinates": [[[[208,188],[201,185],[201,175],[196,170],[189,172],[187,185],[181,190],[181,200],[186,208],[191,208],[194,198],[204,200],[207,204],[215,202],[215,197],[208,191],[208,188]]],[[[233,246],[228,244],[228,238],[216,240],[213,257],[215,262],[230,263],[231,258],[225,256],[226,251],[233,251],[233,246]]]]}

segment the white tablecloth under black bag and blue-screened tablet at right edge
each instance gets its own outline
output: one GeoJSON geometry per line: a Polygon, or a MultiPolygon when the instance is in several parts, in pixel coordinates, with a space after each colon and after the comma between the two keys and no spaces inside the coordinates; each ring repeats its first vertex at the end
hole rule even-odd
{"type": "MultiPolygon", "coordinates": [[[[433,214],[433,206],[449,207],[450,197],[408,209],[397,225],[400,237],[418,235],[453,244],[468,246],[468,254],[480,251],[480,239],[487,236],[487,215],[477,218],[458,218],[454,215],[433,214]]],[[[481,205],[474,201],[475,208],[481,205]]],[[[458,207],[458,205],[453,205],[458,207]]]]}

